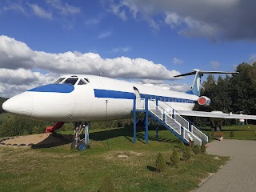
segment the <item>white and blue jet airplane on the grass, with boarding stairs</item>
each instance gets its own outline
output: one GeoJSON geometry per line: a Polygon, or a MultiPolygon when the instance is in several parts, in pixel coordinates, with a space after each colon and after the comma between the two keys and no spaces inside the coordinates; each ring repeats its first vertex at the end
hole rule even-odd
{"type": "MultiPolygon", "coordinates": [[[[132,118],[136,113],[134,108],[144,111],[146,108],[150,108],[149,113],[158,122],[165,121],[165,124],[168,124],[166,119],[168,120],[169,117],[169,123],[180,128],[174,128],[170,124],[166,128],[168,130],[171,128],[170,131],[177,136],[183,134],[184,141],[188,142],[191,140],[191,135],[197,140],[200,140],[200,135],[202,138],[206,138],[206,136],[202,135],[200,130],[196,131],[195,126],[193,126],[194,132],[199,133],[199,136],[192,133],[190,127],[182,125],[184,123],[188,125],[183,116],[256,120],[256,116],[253,115],[193,110],[196,102],[200,105],[210,105],[210,98],[200,96],[203,74],[237,73],[194,69],[193,72],[177,75],[176,77],[183,77],[194,74],[191,90],[186,93],[102,76],[64,75],[51,84],[38,86],[9,98],[2,104],[2,108],[11,114],[58,122],[58,128],[64,122],[77,122],[74,123],[74,135],[76,135],[74,136],[74,146],[78,146],[78,133],[85,130],[85,127],[88,134],[88,122],[132,118]],[[159,111],[161,114],[158,113],[159,111]],[[175,115],[176,119],[174,118],[175,115]]],[[[50,129],[53,130],[54,127],[50,127],[50,129]]],[[[208,138],[205,140],[208,141],[208,138]]],[[[88,143],[88,135],[86,136],[86,143],[88,143]]]]}

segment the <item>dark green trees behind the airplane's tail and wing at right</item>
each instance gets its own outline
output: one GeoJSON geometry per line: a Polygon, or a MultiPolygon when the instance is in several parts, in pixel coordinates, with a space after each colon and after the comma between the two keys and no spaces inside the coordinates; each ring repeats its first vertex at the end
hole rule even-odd
{"type": "MultiPolygon", "coordinates": [[[[243,62],[236,69],[239,74],[225,78],[210,74],[202,82],[201,94],[210,98],[210,106],[196,106],[195,110],[219,110],[233,114],[256,114],[256,62],[248,64],[243,62]]],[[[208,118],[194,118],[198,126],[209,126],[208,118]]],[[[235,120],[226,120],[226,124],[234,124],[235,120]]]]}

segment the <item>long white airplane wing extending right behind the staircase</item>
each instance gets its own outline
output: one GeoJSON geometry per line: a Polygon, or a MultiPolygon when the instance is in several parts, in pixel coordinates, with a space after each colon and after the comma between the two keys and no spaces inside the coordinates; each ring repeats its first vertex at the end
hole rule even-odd
{"type": "Polygon", "coordinates": [[[222,111],[196,111],[196,110],[177,110],[179,114],[193,117],[204,117],[204,118],[238,118],[238,119],[253,119],[256,120],[256,115],[247,114],[225,114],[222,111]]]}

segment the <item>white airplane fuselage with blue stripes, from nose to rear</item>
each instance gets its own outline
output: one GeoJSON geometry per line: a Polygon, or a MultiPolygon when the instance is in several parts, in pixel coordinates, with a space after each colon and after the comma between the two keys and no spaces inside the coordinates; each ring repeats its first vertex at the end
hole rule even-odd
{"type": "Polygon", "coordinates": [[[132,117],[143,98],[166,102],[175,110],[193,110],[198,96],[93,75],[63,76],[53,84],[8,99],[3,109],[56,122],[93,122],[132,117]]]}

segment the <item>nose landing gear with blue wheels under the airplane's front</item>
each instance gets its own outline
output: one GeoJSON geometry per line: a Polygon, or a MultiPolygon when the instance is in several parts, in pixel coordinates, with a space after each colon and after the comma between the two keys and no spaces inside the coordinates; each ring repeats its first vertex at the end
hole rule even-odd
{"type": "Polygon", "coordinates": [[[86,150],[90,148],[89,129],[90,122],[74,122],[74,136],[71,144],[72,149],[86,150]]]}

